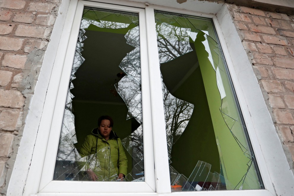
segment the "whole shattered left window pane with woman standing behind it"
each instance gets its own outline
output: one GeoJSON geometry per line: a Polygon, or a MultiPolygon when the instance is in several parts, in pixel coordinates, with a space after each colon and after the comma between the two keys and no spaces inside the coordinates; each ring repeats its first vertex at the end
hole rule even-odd
{"type": "Polygon", "coordinates": [[[84,8],[53,180],[144,181],[138,20],[84,8]],[[102,115],[114,121],[108,140],[97,129],[102,115]]]}

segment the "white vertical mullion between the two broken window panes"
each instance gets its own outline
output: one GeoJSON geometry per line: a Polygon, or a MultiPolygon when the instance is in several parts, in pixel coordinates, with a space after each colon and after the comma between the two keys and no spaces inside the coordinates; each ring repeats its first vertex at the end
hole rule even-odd
{"type": "Polygon", "coordinates": [[[152,127],[157,193],[169,193],[170,175],[165,132],[165,117],[162,102],[161,77],[153,8],[146,7],[147,45],[150,72],[152,127]]]}

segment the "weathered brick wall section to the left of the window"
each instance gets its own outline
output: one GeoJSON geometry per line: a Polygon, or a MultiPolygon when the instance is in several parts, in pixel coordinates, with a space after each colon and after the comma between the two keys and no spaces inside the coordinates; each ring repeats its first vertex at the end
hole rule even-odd
{"type": "Polygon", "coordinates": [[[6,193],[61,0],[0,0],[0,195],[6,193]]]}

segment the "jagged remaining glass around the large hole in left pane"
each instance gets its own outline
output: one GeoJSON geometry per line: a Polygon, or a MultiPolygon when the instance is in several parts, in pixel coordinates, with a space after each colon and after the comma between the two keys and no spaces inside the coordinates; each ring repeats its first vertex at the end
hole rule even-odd
{"type": "Polygon", "coordinates": [[[127,53],[118,65],[118,67],[120,67],[126,75],[123,76],[114,86],[117,93],[121,96],[129,109],[127,119],[135,118],[135,120],[140,124],[140,126],[133,131],[131,135],[122,140],[122,144],[126,148],[127,153],[129,153],[132,157],[133,162],[131,172],[126,174],[123,181],[144,181],[143,118],[141,103],[138,15],[131,13],[114,13],[113,11],[108,10],[100,12],[93,10],[92,8],[84,9],[80,25],[53,180],[92,181],[93,179],[91,179],[89,173],[90,169],[96,174],[98,181],[122,181],[117,180],[117,167],[114,167],[112,162],[107,162],[107,160],[110,160],[111,158],[109,148],[102,148],[99,150],[97,152],[97,158],[96,154],[81,157],[74,146],[74,144],[77,143],[77,137],[75,132],[75,116],[72,113],[72,99],[74,98],[74,95],[70,90],[74,88],[72,80],[76,78],[75,72],[77,72],[81,64],[85,61],[81,55],[81,52],[83,51],[82,47],[84,46],[84,43],[82,42],[87,39],[84,35],[86,33],[85,29],[93,29],[97,27],[101,29],[122,29],[121,32],[127,32],[124,35],[126,43],[134,47],[134,49],[127,53]],[[129,30],[126,31],[125,29],[129,30]],[[106,169],[102,169],[103,167],[101,167],[101,164],[106,164],[106,169]],[[107,172],[108,175],[106,175],[105,172],[107,172]]]}

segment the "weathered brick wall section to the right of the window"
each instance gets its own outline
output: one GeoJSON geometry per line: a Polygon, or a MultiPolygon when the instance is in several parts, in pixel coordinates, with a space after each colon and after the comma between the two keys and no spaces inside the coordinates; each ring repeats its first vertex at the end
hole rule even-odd
{"type": "Polygon", "coordinates": [[[294,16],[227,6],[294,171],[294,16]]]}

